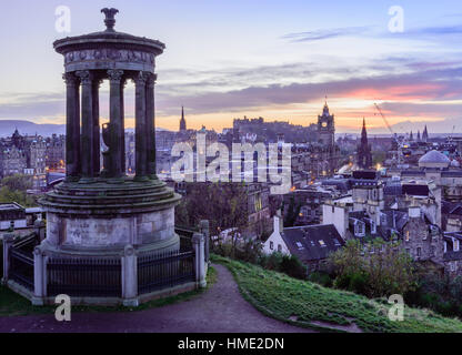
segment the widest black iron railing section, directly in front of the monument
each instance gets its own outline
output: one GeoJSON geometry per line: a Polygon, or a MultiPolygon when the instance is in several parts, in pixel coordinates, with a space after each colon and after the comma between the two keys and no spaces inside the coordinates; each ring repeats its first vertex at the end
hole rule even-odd
{"type": "Polygon", "coordinates": [[[48,295],[121,297],[120,258],[50,258],[48,295]]]}

